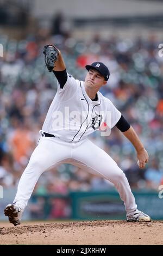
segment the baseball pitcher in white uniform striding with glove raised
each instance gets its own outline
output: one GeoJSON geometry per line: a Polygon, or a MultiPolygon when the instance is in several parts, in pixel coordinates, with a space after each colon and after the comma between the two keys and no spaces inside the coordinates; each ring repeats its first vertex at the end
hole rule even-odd
{"type": "Polygon", "coordinates": [[[150,222],[151,218],[137,209],[123,170],[88,138],[95,130],[109,136],[110,129],[116,126],[134,145],[139,167],[144,168],[149,160],[133,127],[99,92],[109,79],[108,68],[101,62],[86,65],[85,81],[79,81],[66,71],[58,48],[46,45],[43,53],[48,71],[57,77],[58,90],[40,131],[39,143],[21,176],[14,202],[6,206],[4,214],[14,225],[20,224],[40,175],[58,164],[70,163],[114,184],[126,207],[127,221],[150,222]]]}

